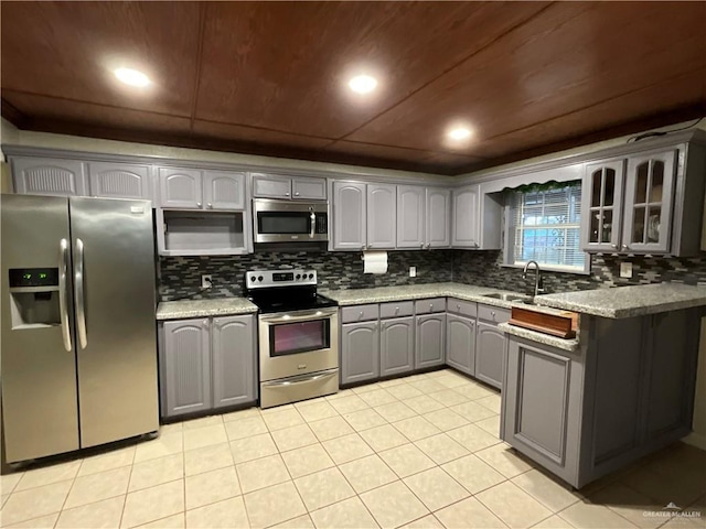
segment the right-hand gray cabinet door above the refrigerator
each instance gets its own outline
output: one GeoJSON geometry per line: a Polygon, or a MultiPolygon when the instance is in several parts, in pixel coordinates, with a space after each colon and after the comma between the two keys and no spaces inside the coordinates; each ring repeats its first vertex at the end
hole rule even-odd
{"type": "Polygon", "coordinates": [[[150,165],[89,162],[90,195],[104,198],[152,198],[150,165]]]}

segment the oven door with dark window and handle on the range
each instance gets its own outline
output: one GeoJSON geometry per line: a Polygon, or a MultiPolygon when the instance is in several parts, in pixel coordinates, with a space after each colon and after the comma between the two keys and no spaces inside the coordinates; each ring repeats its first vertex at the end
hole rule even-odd
{"type": "Polygon", "coordinates": [[[339,367],[339,310],[260,314],[260,381],[339,367]]]}

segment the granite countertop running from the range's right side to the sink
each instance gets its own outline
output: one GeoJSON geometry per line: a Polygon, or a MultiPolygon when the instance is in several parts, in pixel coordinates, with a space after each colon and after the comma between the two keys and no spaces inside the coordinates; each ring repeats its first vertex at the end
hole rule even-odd
{"type": "MultiPolygon", "coordinates": [[[[524,295],[507,290],[473,287],[463,283],[405,284],[399,287],[378,287],[374,289],[321,290],[319,292],[336,301],[341,306],[385,303],[387,301],[424,300],[427,298],[457,298],[463,301],[477,301],[488,305],[510,309],[513,302],[485,298],[483,294],[501,292],[524,295]]],[[[528,299],[530,296],[526,298],[528,299]]]]}

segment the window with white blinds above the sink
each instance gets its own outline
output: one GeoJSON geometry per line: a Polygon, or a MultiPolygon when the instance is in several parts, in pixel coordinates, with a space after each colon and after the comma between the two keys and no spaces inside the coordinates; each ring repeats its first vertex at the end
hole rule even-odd
{"type": "Polygon", "coordinates": [[[537,261],[545,270],[588,272],[579,244],[580,180],[515,191],[509,202],[505,264],[537,261]]]}

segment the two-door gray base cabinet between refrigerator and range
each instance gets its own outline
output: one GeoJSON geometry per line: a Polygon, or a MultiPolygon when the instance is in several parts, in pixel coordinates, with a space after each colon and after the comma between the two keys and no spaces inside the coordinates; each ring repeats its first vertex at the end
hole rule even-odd
{"type": "Polygon", "coordinates": [[[162,417],[255,402],[255,316],[160,324],[162,417]]]}

